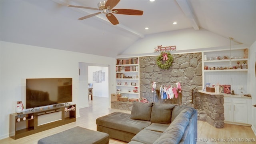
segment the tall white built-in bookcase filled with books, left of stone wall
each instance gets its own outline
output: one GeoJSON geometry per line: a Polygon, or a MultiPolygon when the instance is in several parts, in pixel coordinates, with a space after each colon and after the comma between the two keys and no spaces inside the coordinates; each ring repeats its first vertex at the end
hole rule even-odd
{"type": "Polygon", "coordinates": [[[140,98],[139,84],[139,59],[118,58],[116,59],[116,93],[130,98],[140,98]],[[137,87],[137,92],[133,92],[137,87]]]}

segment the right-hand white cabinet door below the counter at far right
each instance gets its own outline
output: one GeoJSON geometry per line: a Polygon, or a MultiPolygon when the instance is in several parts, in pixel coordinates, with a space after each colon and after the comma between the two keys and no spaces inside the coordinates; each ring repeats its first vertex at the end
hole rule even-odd
{"type": "Polygon", "coordinates": [[[247,124],[247,104],[234,103],[234,122],[247,124]]]}

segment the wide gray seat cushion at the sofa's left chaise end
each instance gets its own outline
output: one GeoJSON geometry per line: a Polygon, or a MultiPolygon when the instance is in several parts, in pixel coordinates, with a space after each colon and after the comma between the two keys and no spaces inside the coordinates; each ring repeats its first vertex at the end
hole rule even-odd
{"type": "Polygon", "coordinates": [[[137,134],[151,124],[150,121],[133,120],[130,117],[131,114],[113,112],[112,114],[97,118],[96,124],[107,128],[130,132],[132,134],[137,134]]]}

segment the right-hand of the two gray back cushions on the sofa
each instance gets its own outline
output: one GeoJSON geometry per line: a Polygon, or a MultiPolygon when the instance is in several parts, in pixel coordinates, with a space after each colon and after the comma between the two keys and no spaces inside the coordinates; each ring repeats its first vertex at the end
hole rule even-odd
{"type": "Polygon", "coordinates": [[[175,104],[153,103],[150,122],[171,123],[172,109],[175,104]]]}

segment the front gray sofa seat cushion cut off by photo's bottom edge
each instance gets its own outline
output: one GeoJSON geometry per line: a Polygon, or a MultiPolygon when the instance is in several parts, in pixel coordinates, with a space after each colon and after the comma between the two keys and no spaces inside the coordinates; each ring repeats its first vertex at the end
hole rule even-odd
{"type": "Polygon", "coordinates": [[[154,141],[156,141],[162,132],[156,132],[152,130],[142,130],[138,134],[136,134],[132,141],[141,142],[144,144],[153,144],[154,141]]]}

